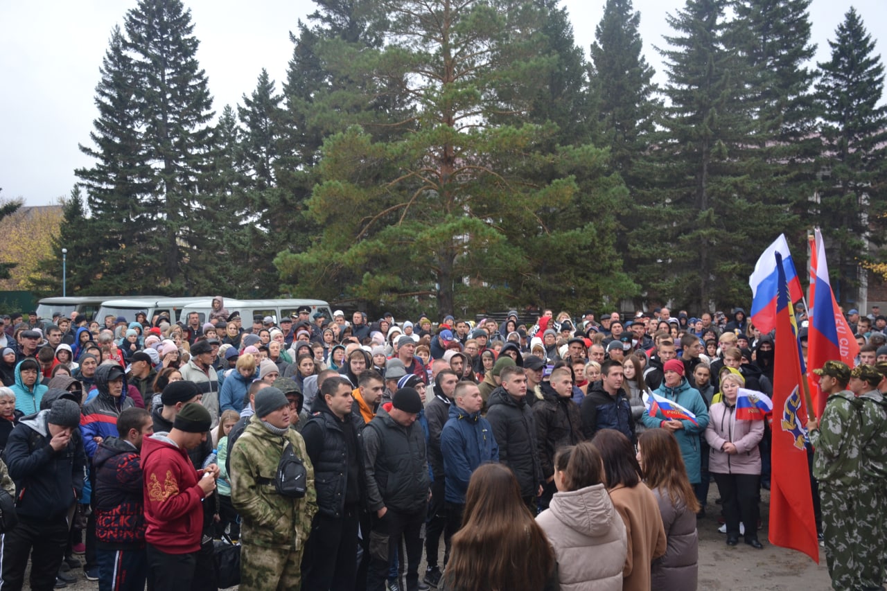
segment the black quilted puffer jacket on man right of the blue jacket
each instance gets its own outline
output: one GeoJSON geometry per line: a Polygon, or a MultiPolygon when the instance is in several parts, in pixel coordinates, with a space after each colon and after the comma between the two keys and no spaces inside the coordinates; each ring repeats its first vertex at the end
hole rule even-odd
{"type": "MultiPolygon", "coordinates": [[[[531,392],[527,396],[533,396],[531,392]]],[[[536,421],[526,398],[518,400],[499,386],[490,394],[487,421],[499,446],[499,462],[514,471],[522,497],[536,497],[542,484],[536,443],[536,421]]]]}

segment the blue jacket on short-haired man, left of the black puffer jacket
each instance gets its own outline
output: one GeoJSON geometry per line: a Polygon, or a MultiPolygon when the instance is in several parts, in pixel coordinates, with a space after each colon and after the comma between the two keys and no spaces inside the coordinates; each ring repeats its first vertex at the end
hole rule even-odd
{"type": "Polygon", "coordinates": [[[450,405],[450,419],[441,431],[443,477],[447,502],[465,504],[465,493],[471,475],[483,463],[498,462],[498,445],[490,422],[481,414],[468,414],[450,405]]]}

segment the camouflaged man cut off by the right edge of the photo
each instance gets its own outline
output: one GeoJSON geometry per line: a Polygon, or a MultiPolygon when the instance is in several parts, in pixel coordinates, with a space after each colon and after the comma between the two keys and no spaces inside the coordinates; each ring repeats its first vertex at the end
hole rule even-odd
{"type": "MultiPolygon", "coordinates": [[[[860,366],[865,379],[852,378],[863,390],[858,394],[862,421],[862,483],[860,485],[860,538],[867,540],[867,566],[860,569],[863,588],[882,588],[884,580],[884,552],[887,537],[884,524],[887,519],[887,401],[882,389],[887,389],[887,363],[860,366]]],[[[856,371],[856,370],[854,370],[856,371]]]]}

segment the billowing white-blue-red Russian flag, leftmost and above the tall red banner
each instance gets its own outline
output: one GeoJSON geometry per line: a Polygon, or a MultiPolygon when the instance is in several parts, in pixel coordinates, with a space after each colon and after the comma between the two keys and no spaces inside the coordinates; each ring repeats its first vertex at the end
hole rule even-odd
{"type": "Polygon", "coordinates": [[[785,234],[780,234],[757,259],[755,270],[749,276],[752,296],[750,319],[762,333],[769,333],[776,327],[776,293],[779,290],[774,256],[776,253],[782,256],[782,270],[789,282],[791,301],[797,302],[804,297],[801,280],[789,253],[789,242],[785,240],[785,234]]]}

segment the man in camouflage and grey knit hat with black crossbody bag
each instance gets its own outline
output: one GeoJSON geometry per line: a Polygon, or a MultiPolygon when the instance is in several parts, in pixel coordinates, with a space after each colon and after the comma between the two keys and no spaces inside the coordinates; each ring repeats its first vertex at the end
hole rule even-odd
{"type": "Polygon", "coordinates": [[[302,552],[317,513],[314,469],[289,401],[273,386],[259,390],[255,414],[231,451],[232,503],[240,515],[240,590],[287,591],[302,587],[302,552]],[[308,472],[301,499],[279,494],[274,482],[287,443],[308,472]]]}

